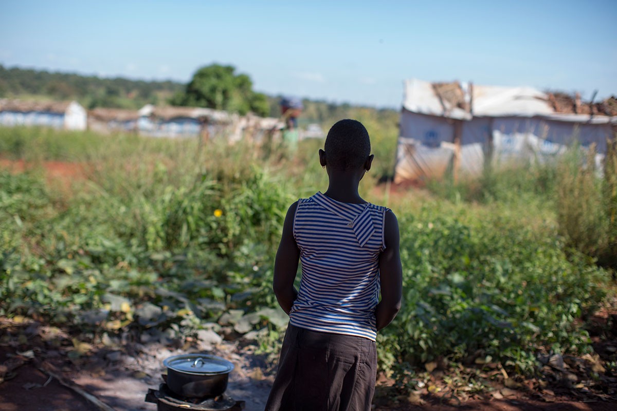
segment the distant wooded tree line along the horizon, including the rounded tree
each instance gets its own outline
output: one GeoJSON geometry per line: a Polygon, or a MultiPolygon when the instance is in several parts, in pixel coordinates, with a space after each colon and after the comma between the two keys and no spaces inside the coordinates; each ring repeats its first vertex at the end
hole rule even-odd
{"type": "MultiPolygon", "coordinates": [[[[199,68],[189,83],[143,81],[122,77],[101,78],[0,65],[0,98],[77,100],[86,108],[139,109],[146,104],[210,107],[260,116],[280,116],[282,96],[253,90],[251,78],[231,65],[212,64],[199,68]]],[[[398,112],[391,109],[336,104],[303,99],[300,124],[318,123],[327,128],[341,118],[358,118],[391,129],[398,112]],[[382,124],[383,123],[383,124],[382,124]]],[[[361,120],[362,121],[362,120],[361,120]]]]}

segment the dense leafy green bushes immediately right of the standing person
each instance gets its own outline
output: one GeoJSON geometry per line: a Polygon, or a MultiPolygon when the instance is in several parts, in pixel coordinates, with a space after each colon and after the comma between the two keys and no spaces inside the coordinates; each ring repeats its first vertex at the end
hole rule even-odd
{"type": "Polygon", "coordinates": [[[603,298],[606,273],[495,217],[473,228],[428,211],[400,219],[404,307],[384,333],[392,365],[491,356],[530,372],[520,359],[542,349],[590,349],[576,320],[603,298]]]}

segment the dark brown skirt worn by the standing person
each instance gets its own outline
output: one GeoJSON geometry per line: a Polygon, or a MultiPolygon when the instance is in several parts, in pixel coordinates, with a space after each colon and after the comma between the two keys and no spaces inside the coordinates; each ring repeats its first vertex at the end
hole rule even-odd
{"type": "Polygon", "coordinates": [[[375,341],[289,325],[266,411],[371,409],[375,341]]]}

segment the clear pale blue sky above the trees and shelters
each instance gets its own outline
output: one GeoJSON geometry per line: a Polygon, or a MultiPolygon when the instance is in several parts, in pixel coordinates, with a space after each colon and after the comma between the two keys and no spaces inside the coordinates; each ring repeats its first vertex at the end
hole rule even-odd
{"type": "Polygon", "coordinates": [[[617,1],[7,1],[0,64],[400,107],[406,78],[617,94],[617,1]]]}

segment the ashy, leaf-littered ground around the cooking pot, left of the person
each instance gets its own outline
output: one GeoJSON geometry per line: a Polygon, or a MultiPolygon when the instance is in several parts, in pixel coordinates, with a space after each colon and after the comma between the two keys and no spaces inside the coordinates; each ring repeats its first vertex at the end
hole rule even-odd
{"type": "MultiPolygon", "coordinates": [[[[58,378],[91,394],[114,410],[156,410],[157,406],[145,402],[145,397],[149,388],[157,389],[163,382],[165,368],[162,360],[187,352],[157,343],[113,351],[92,348],[84,356],[71,357],[69,353],[75,352],[75,349],[67,351],[65,348],[70,346],[65,344],[58,349],[50,349],[48,344],[32,334],[36,329],[32,324],[19,330],[7,327],[6,320],[0,319],[0,322],[4,322],[0,326],[0,364],[17,358],[24,361],[23,365],[15,368],[14,375],[5,376],[6,381],[0,383],[0,409],[3,411],[99,409],[83,394],[62,385],[58,378]],[[20,344],[20,335],[27,335],[28,342],[20,344]],[[10,340],[7,341],[6,336],[10,340]]],[[[36,332],[44,335],[46,327],[38,327],[36,332]]],[[[264,376],[262,368],[255,365],[259,359],[241,355],[238,344],[229,341],[210,348],[207,352],[225,357],[235,365],[226,394],[246,401],[247,411],[263,410],[272,377],[264,376]]]]}

